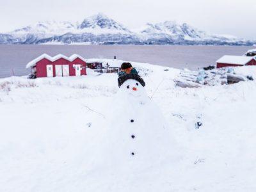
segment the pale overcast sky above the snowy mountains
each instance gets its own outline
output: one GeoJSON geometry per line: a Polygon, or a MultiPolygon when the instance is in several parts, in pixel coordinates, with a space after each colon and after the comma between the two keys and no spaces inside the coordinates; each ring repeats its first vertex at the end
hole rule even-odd
{"type": "Polygon", "coordinates": [[[209,33],[256,39],[256,0],[0,0],[0,31],[104,13],[129,28],[176,20],[209,33]]]}

